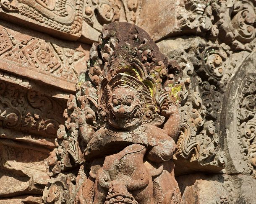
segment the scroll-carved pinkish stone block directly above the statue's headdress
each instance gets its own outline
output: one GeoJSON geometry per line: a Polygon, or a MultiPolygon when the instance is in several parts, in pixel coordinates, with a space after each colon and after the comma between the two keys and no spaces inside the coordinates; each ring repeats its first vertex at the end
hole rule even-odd
{"type": "Polygon", "coordinates": [[[86,0],[80,40],[86,43],[97,42],[104,24],[114,21],[136,23],[136,13],[141,8],[140,2],[140,0],[86,0]]]}

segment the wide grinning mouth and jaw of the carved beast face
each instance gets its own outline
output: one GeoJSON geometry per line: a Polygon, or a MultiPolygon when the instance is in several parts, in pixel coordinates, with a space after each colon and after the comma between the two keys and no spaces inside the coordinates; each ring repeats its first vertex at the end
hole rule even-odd
{"type": "Polygon", "coordinates": [[[141,117],[137,108],[135,108],[130,114],[124,116],[122,115],[122,117],[114,114],[113,110],[110,109],[108,121],[112,127],[123,129],[137,125],[138,123],[140,123],[141,117]]]}

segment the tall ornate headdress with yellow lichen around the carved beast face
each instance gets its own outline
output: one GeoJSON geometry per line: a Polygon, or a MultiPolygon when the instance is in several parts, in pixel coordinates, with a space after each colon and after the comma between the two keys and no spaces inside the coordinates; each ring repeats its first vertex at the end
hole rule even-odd
{"type": "MultiPolygon", "coordinates": [[[[98,98],[96,95],[90,97],[90,93],[87,93],[87,99],[91,98],[99,112],[105,106],[107,84],[110,87],[117,84],[143,87],[147,107],[154,115],[151,120],[154,125],[164,122],[164,117],[159,115],[163,106],[171,103],[179,105],[182,98],[182,71],[176,61],[169,62],[149,35],[130,23],[118,22],[104,26],[99,43],[91,47],[87,67],[84,76],[81,74],[78,93],[79,89],[86,89],[90,81],[98,98]]],[[[94,125],[99,127],[99,120],[94,125]]]]}

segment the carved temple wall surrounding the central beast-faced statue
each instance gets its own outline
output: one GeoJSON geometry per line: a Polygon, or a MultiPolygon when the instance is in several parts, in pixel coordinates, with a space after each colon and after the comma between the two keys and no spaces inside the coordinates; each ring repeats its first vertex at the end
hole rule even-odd
{"type": "Polygon", "coordinates": [[[46,166],[59,125],[73,117],[65,109],[92,43],[114,21],[144,29],[183,71],[173,156],[183,203],[254,204],[255,6],[252,0],[0,0],[0,204],[73,202],[78,169],[71,164],[56,176],[46,166]],[[47,201],[50,184],[59,181],[63,197],[47,201]]]}

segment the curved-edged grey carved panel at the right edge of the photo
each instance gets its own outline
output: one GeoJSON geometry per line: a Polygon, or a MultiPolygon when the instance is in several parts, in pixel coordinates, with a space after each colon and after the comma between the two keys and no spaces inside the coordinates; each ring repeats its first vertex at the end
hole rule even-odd
{"type": "Polygon", "coordinates": [[[229,163],[227,172],[255,177],[256,51],[248,55],[228,84],[220,125],[229,163]]]}

